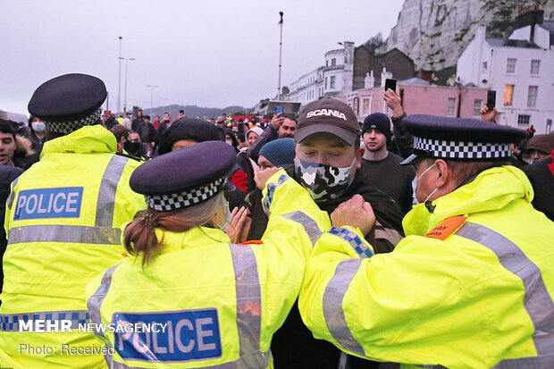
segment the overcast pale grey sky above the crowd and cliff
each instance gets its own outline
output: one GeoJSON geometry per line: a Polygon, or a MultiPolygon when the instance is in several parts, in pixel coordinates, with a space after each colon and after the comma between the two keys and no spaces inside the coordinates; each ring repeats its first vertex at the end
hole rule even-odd
{"type": "MultiPolygon", "coordinates": [[[[129,62],[127,106],[252,106],[323,64],[339,41],[389,35],[402,0],[1,0],[0,109],[28,113],[35,88],[82,72],[118,95],[119,40],[129,62]]],[[[122,102],[125,68],[122,63],[122,102]]]]}

